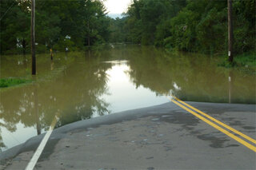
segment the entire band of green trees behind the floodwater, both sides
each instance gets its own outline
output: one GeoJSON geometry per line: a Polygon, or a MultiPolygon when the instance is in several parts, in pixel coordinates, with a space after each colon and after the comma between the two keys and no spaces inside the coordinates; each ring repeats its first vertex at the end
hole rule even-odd
{"type": "MultiPolygon", "coordinates": [[[[30,1],[1,1],[0,9],[1,53],[30,53],[30,1]]],[[[255,0],[233,0],[232,65],[255,65],[255,9],[255,0]]],[[[100,0],[38,0],[35,18],[37,53],[132,43],[227,57],[226,0],[134,0],[115,19],[100,0]]]]}

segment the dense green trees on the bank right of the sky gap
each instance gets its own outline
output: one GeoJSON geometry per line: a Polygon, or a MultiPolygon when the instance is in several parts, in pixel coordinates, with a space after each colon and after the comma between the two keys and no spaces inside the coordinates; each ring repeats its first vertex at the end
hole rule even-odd
{"type": "MultiPolygon", "coordinates": [[[[255,9],[255,0],[233,0],[236,53],[255,49],[255,9]]],[[[134,0],[114,26],[122,26],[115,31],[117,42],[203,53],[227,50],[226,0],[134,0]]]]}

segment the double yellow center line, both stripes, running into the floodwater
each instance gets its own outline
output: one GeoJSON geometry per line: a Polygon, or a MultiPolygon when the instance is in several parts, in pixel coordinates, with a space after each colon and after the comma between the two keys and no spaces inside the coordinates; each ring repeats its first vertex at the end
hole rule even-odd
{"type": "Polygon", "coordinates": [[[191,105],[186,104],[184,101],[179,100],[177,97],[172,96],[173,98],[170,99],[170,101],[174,102],[174,104],[178,105],[179,107],[181,107],[182,109],[185,109],[187,112],[193,114],[195,117],[198,117],[199,119],[201,119],[202,121],[205,121],[208,125],[213,126],[214,128],[217,128],[219,131],[225,133],[227,136],[230,136],[231,138],[233,138],[234,140],[237,140],[240,144],[245,145],[247,148],[250,148],[251,150],[253,150],[254,152],[256,152],[256,147],[254,146],[256,144],[256,140],[254,140],[253,138],[251,138],[250,136],[246,136],[245,134],[243,134],[242,132],[239,132],[238,130],[231,128],[230,126],[222,123],[221,121],[216,120],[214,117],[210,117],[208,114],[203,113],[202,111],[194,108],[191,105]],[[202,117],[204,116],[204,117],[202,117]],[[208,118],[208,119],[206,119],[208,118]],[[222,127],[230,130],[227,131],[226,129],[220,127],[219,125],[221,125],[222,127]],[[242,140],[240,137],[235,136],[234,134],[232,134],[231,132],[234,132],[235,134],[238,134],[239,136],[242,136],[244,139],[250,141],[253,144],[248,143],[245,140],[242,140]]]}

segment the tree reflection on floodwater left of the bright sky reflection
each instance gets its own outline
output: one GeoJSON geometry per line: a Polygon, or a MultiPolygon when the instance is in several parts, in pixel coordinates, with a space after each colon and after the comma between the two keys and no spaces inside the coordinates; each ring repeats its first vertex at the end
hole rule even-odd
{"type": "MultiPolygon", "coordinates": [[[[25,127],[47,129],[56,113],[59,113],[57,126],[90,118],[93,113],[108,113],[109,104],[101,96],[107,93],[106,69],[111,65],[102,65],[95,57],[75,56],[74,60],[57,77],[46,78],[47,81],[41,77],[34,85],[0,92],[0,119],[4,122],[0,125],[10,132],[17,130],[19,122],[25,127]]],[[[1,141],[2,136],[0,148],[4,147],[1,141]]]]}

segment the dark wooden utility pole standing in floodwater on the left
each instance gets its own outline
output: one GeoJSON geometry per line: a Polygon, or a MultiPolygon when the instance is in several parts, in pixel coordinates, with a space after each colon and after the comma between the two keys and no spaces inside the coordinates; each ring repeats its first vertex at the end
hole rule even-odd
{"type": "Polygon", "coordinates": [[[35,34],[34,34],[34,6],[35,0],[31,0],[31,53],[32,53],[32,75],[36,74],[35,62],[35,34]]]}

